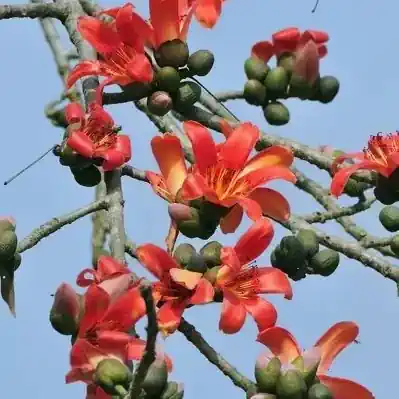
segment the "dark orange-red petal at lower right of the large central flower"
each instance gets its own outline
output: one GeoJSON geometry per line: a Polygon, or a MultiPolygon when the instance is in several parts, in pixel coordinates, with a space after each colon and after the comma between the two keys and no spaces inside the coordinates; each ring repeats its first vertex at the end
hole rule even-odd
{"type": "Polygon", "coordinates": [[[262,208],[262,213],[275,220],[286,221],[291,214],[290,204],[278,191],[271,188],[258,187],[250,194],[262,208]]]}

